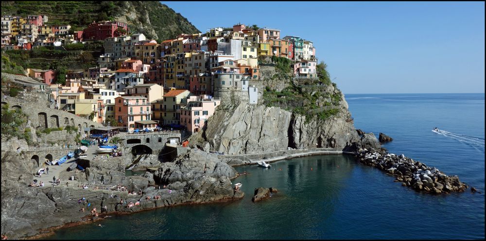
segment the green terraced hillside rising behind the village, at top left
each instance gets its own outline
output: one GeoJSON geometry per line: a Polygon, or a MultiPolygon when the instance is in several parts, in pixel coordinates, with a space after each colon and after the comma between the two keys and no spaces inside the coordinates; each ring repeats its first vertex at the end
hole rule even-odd
{"type": "Polygon", "coordinates": [[[196,33],[187,18],[158,1],[2,1],[2,15],[47,15],[48,25],[70,24],[82,30],[93,21],[120,20],[132,32],[165,40],[180,33],[196,33]]]}

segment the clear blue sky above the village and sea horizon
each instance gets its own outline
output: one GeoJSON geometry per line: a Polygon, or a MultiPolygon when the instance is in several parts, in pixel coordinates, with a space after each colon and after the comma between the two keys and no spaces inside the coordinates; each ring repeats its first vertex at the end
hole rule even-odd
{"type": "Polygon", "coordinates": [[[162,3],[201,32],[241,22],[311,40],[345,94],[485,93],[484,2],[162,3]]]}

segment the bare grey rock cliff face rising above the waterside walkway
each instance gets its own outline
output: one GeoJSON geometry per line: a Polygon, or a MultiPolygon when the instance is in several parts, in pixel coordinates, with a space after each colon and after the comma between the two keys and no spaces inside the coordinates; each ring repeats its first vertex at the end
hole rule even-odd
{"type": "MultiPolygon", "coordinates": [[[[320,90],[310,92],[314,95],[317,92],[328,93],[330,96],[336,96],[339,92],[333,85],[318,88],[320,90]]],[[[321,95],[324,97],[315,100],[317,108],[321,108],[321,112],[332,110],[325,104],[326,95],[321,95]]],[[[260,104],[261,100],[257,105],[223,103],[208,119],[203,131],[191,137],[190,144],[227,154],[263,153],[288,147],[338,147],[350,150],[354,148],[353,143],[380,148],[378,141],[369,140],[374,135],[358,135],[344,95],[338,96],[339,99],[332,106],[337,111],[325,119],[312,118],[312,113],[304,115],[293,112],[292,108],[298,107],[292,105],[308,101],[306,99],[287,99],[277,102],[278,106],[260,104]]],[[[315,116],[319,116],[319,112],[315,112],[315,116]]]]}

